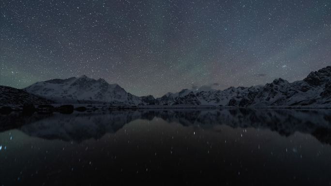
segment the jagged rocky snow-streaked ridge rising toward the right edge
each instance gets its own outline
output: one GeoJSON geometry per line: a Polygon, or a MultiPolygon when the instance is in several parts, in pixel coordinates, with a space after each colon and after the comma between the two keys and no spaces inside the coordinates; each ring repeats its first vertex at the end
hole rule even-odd
{"type": "Polygon", "coordinates": [[[311,72],[305,79],[289,83],[275,79],[265,86],[229,87],[225,90],[183,89],[158,98],[159,104],[266,107],[331,105],[331,66],[311,72]]]}

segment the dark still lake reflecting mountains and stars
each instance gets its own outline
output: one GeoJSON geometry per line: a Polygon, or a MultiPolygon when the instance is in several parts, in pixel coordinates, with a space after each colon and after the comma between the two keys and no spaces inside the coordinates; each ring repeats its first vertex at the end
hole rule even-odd
{"type": "Polygon", "coordinates": [[[0,186],[331,185],[331,110],[0,115],[0,186]]]}

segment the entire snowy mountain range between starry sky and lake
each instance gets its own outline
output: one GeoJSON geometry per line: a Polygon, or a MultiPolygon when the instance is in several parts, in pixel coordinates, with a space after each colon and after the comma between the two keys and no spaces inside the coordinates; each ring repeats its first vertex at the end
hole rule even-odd
{"type": "MultiPolygon", "coordinates": [[[[109,103],[120,105],[207,105],[212,107],[283,107],[283,106],[331,106],[331,66],[311,72],[301,81],[289,83],[279,78],[264,86],[229,87],[225,90],[200,88],[183,89],[167,93],[161,98],[138,97],[126,92],[117,84],[108,84],[83,75],[68,79],[52,79],[37,82],[24,89],[0,86],[1,100],[17,104],[15,92],[30,94],[31,103],[109,103]],[[5,94],[4,90],[12,89],[5,94]],[[12,100],[12,101],[11,101],[12,100]],[[15,101],[14,101],[15,100],[15,101]]],[[[19,96],[18,96],[19,97],[19,96]]],[[[27,101],[25,101],[27,102],[27,101]]]]}

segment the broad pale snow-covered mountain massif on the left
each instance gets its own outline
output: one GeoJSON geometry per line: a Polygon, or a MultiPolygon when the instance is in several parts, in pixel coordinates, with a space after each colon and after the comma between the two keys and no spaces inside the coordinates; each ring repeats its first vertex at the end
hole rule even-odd
{"type": "Polygon", "coordinates": [[[52,79],[37,82],[26,87],[29,93],[58,102],[110,102],[128,105],[148,104],[144,98],[127,93],[117,84],[108,84],[104,79],[98,80],[83,75],[78,78],[52,79]]]}

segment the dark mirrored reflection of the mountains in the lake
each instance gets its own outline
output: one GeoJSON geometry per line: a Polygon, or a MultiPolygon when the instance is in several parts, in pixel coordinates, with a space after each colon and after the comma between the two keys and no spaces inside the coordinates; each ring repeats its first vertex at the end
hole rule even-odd
{"type": "Polygon", "coordinates": [[[227,125],[232,128],[270,129],[285,136],[299,131],[312,134],[323,143],[331,143],[331,110],[324,109],[119,110],[30,116],[12,113],[2,118],[7,119],[1,119],[3,123],[22,126],[20,130],[30,136],[76,142],[99,139],[105,133],[114,133],[137,119],[162,118],[169,123],[202,129],[227,125]]]}

